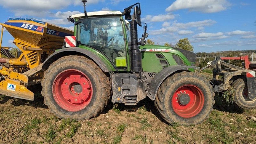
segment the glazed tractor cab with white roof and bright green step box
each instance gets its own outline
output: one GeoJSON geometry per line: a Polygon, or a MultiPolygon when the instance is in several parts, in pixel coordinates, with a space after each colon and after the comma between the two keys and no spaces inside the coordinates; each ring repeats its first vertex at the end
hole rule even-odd
{"type": "Polygon", "coordinates": [[[119,11],[87,12],[71,17],[75,20],[75,36],[78,45],[84,45],[103,53],[114,67],[126,67],[129,26],[119,11]],[[128,36],[127,36],[128,34],[128,36]]]}

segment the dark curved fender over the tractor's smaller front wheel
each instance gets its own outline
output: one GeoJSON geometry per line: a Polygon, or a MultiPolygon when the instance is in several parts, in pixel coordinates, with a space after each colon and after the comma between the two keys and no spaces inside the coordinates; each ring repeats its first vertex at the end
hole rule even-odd
{"type": "Polygon", "coordinates": [[[151,100],[156,99],[156,92],[160,85],[163,83],[163,81],[170,75],[174,74],[177,71],[180,70],[188,70],[188,68],[193,68],[193,69],[199,69],[199,67],[193,67],[193,66],[170,66],[167,68],[164,68],[161,70],[151,81],[149,88],[148,88],[148,97],[151,100]]]}

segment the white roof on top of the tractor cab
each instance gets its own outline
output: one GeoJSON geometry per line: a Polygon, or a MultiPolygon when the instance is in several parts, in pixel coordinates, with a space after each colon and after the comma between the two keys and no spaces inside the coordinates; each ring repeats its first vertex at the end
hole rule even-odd
{"type": "MultiPolygon", "coordinates": [[[[99,11],[99,12],[87,12],[87,16],[103,16],[103,15],[114,15],[114,16],[122,16],[123,13],[119,11],[99,11]]],[[[79,19],[84,17],[84,13],[79,13],[71,16],[74,19],[79,19]]]]}

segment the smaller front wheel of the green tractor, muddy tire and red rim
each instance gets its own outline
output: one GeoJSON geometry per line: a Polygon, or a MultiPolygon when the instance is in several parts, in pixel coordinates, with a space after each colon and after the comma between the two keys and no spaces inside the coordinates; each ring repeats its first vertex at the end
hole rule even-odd
{"type": "MultiPolygon", "coordinates": [[[[189,97],[190,99],[192,99],[191,94],[189,94],[189,97]]],[[[196,101],[196,99],[194,99],[194,101],[196,101]]],[[[191,100],[190,102],[193,103],[193,100],[191,100]]],[[[212,86],[210,85],[210,82],[207,81],[204,77],[194,72],[186,72],[186,71],[181,73],[176,73],[168,77],[166,80],[164,80],[164,82],[161,84],[161,86],[157,91],[156,100],[155,100],[155,106],[157,108],[157,111],[164,118],[166,122],[170,124],[178,123],[182,125],[202,123],[205,119],[209,117],[210,113],[213,110],[212,107],[214,103],[215,103],[214,92],[212,91],[212,86]],[[192,89],[196,90],[196,91],[195,90],[192,90],[192,91],[194,91],[195,93],[194,97],[196,97],[197,100],[199,99],[198,99],[198,96],[196,95],[201,95],[201,98],[200,98],[201,101],[199,102],[201,109],[195,108],[197,113],[191,113],[191,115],[189,116],[187,116],[187,113],[185,112],[187,111],[186,109],[184,110],[184,114],[178,113],[179,111],[176,110],[175,107],[179,107],[180,105],[180,107],[183,108],[184,105],[180,104],[178,100],[176,101],[175,99],[177,98],[173,98],[174,96],[176,97],[176,95],[179,95],[179,94],[186,94],[185,90],[188,87],[190,90],[192,89]],[[185,93],[182,92],[181,89],[185,89],[184,90],[185,93]],[[198,94],[196,92],[201,92],[201,94],[198,94]],[[177,104],[175,102],[177,102],[177,104]],[[175,106],[175,105],[178,105],[178,106],[175,106]]],[[[196,105],[194,103],[193,105],[190,106],[190,108],[193,109],[195,106],[196,105]]]]}

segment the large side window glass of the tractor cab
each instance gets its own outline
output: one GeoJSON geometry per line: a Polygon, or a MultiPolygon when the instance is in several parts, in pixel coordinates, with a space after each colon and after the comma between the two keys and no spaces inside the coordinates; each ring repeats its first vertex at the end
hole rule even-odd
{"type": "Polygon", "coordinates": [[[120,17],[81,19],[77,40],[104,53],[113,63],[125,57],[124,33],[120,17]]]}

